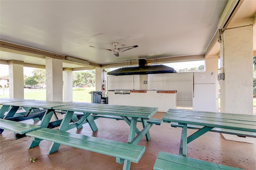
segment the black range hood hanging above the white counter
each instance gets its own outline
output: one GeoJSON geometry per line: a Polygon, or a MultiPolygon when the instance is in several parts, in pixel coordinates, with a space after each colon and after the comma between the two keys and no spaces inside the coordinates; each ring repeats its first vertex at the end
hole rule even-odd
{"type": "Polygon", "coordinates": [[[172,67],[166,65],[146,65],[145,59],[139,59],[138,67],[122,67],[108,72],[108,75],[141,75],[141,74],[162,74],[177,73],[172,67]]]}

